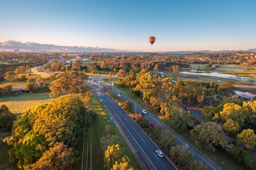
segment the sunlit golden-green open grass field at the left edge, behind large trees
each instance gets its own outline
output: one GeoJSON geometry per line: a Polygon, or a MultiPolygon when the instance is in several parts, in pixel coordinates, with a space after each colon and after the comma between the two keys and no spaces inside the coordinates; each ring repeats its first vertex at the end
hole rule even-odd
{"type": "Polygon", "coordinates": [[[44,91],[16,96],[1,96],[0,105],[5,104],[12,113],[21,114],[38,104],[50,103],[55,98],[50,98],[49,94],[49,91],[44,91]]]}

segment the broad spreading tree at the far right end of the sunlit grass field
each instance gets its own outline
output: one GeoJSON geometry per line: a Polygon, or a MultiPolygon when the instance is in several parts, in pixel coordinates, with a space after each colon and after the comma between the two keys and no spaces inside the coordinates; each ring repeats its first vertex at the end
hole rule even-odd
{"type": "Polygon", "coordinates": [[[84,80],[87,78],[88,75],[83,72],[63,72],[56,75],[56,80],[53,80],[52,84],[49,85],[50,97],[86,93],[89,87],[84,83],[84,80]]]}

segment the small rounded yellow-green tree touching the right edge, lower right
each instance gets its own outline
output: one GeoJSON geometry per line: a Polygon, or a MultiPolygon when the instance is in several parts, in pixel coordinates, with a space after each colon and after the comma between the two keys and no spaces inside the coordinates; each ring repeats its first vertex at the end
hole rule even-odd
{"type": "Polygon", "coordinates": [[[252,129],[245,129],[237,135],[237,141],[244,143],[245,148],[253,149],[256,145],[256,135],[252,129]]]}

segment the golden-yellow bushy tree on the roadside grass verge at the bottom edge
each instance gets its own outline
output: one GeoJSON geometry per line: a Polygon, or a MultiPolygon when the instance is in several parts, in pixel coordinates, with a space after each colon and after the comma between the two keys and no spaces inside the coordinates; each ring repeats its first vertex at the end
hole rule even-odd
{"type": "Polygon", "coordinates": [[[120,147],[119,144],[108,146],[104,154],[104,168],[111,169],[116,161],[121,161],[125,156],[125,149],[120,147]]]}

